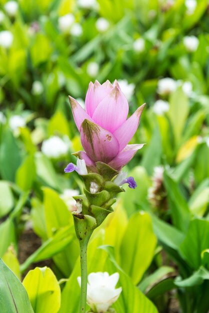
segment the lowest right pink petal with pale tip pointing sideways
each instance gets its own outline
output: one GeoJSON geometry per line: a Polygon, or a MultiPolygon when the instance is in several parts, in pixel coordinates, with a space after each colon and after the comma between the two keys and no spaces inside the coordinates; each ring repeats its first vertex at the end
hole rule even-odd
{"type": "Polygon", "coordinates": [[[127,144],[126,147],[108,163],[108,165],[116,170],[120,170],[122,166],[131,160],[136,151],[142,148],[143,145],[144,144],[127,144]]]}

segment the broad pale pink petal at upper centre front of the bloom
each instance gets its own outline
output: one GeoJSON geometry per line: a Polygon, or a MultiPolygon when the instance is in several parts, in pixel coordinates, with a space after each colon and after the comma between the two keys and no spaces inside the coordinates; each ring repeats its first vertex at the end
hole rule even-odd
{"type": "Polygon", "coordinates": [[[115,131],[127,118],[128,103],[115,86],[96,107],[92,119],[104,129],[115,131]]]}

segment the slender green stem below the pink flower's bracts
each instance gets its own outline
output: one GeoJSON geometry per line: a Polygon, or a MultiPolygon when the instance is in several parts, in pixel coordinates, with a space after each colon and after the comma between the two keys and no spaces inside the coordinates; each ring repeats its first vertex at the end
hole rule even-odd
{"type": "Polygon", "coordinates": [[[81,271],[79,313],[85,313],[86,295],[87,295],[87,244],[88,244],[88,238],[84,238],[84,239],[80,240],[79,244],[80,244],[80,271],[81,271]]]}

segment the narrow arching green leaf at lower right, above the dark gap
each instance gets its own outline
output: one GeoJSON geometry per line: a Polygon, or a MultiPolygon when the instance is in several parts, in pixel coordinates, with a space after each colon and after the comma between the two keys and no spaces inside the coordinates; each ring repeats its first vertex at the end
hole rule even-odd
{"type": "Polygon", "coordinates": [[[153,273],[145,277],[138,285],[139,290],[145,292],[147,288],[157,284],[160,280],[165,279],[168,273],[174,272],[174,268],[170,266],[161,266],[157,268],[153,273]]]}

